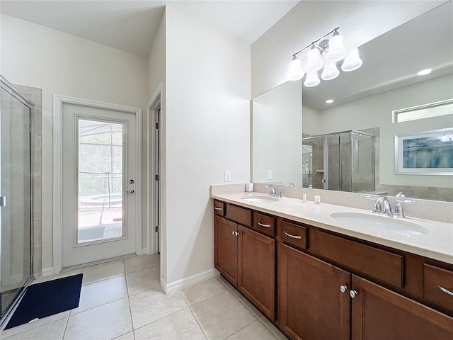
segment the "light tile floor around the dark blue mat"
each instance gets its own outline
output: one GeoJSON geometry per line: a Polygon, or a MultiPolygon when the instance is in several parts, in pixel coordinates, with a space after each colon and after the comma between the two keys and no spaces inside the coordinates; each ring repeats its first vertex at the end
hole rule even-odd
{"type": "Polygon", "coordinates": [[[134,256],[57,277],[76,273],[84,273],[79,307],[1,330],[0,339],[286,339],[221,276],[165,295],[159,255],[134,256]]]}

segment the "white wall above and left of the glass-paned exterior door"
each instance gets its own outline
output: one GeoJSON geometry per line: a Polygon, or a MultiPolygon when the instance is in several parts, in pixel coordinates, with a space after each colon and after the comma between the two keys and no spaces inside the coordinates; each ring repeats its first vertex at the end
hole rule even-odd
{"type": "Polygon", "coordinates": [[[42,268],[52,268],[52,95],[145,108],[147,60],[2,14],[0,73],[42,89],[42,268]]]}

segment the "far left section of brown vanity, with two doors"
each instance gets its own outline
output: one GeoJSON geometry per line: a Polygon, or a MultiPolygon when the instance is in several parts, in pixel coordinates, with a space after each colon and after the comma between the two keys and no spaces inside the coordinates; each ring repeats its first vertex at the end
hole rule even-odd
{"type": "Polygon", "coordinates": [[[227,203],[224,209],[225,217],[214,215],[214,267],[260,312],[274,320],[275,240],[251,229],[251,210],[227,203]]]}

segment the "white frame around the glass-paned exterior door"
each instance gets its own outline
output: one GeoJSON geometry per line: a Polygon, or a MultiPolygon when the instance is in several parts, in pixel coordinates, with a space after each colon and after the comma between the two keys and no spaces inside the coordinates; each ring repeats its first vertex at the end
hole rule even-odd
{"type": "MultiPolygon", "coordinates": [[[[53,95],[53,273],[57,274],[62,271],[63,258],[63,149],[62,149],[62,113],[63,104],[74,104],[88,106],[92,108],[103,108],[106,110],[122,111],[124,113],[133,113],[136,117],[137,148],[135,150],[135,159],[137,159],[137,173],[134,178],[137,179],[137,188],[142,188],[142,108],[134,106],[123,106],[103,101],[92,101],[90,99],[64,96],[61,94],[53,95]]],[[[132,175],[132,174],[131,174],[132,175]]],[[[135,206],[135,252],[142,255],[142,194],[137,195],[137,204],[135,206]]]]}

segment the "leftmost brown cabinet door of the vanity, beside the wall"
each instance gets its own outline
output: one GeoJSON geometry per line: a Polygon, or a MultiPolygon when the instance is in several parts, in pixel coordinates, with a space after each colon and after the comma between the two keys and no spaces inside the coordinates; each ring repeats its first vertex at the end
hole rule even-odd
{"type": "Polygon", "coordinates": [[[214,217],[214,266],[236,286],[238,278],[238,225],[214,217]]]}

